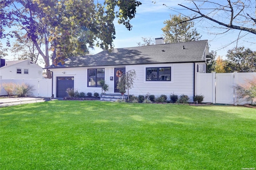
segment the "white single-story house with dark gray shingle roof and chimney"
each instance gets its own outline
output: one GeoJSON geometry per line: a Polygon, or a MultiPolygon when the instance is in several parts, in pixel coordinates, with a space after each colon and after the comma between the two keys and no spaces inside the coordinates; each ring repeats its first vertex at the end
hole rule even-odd
{"type": "MultiPolygon", "coordinates": [[[[101,93],[97,83],[104,79],[109,85],[106,93],[118,93],[117,71],[136,71],[134,87],[130,95],[150,93],[186,94],[192,99],[195,95],[196,72],[206,72],[206,59],[209,53],[208,41],[194,41],[171,44],[118,48],[102,51],[95,55],[70,57],[64,65],[51,65],[53,72],[53,94],[67,96],[66,89],[74,87],[78,92],[101,93]]],[[[127,94],[127,92],[126,92],[127,94]]]]}

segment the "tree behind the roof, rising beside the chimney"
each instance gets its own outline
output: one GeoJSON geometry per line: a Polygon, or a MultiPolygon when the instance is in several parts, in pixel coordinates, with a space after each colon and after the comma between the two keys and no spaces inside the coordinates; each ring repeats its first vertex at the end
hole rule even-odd
{"type": "Polygon", "coordinates": [[[194,29],[194,22],[187,21],[186,17],[182,17],[181,15],[170,15],[170,20],[166,20],[164,24],[164,28],[162,31],[164,32],[164,42],[165,43],[176,43],[176,42],[190,42],[200,40],[200,34],[194,29]]]}

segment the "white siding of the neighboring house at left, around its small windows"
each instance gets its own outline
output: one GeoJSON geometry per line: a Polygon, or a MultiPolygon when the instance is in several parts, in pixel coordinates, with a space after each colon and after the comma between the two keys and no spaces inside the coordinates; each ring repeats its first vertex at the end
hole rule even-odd
{"type": "Polygon", "coordinates": [[[42,67],[26,60],[10,66],[1,67],[0,79],[42,79],[42,71],[42,67]],[[17,74],[17,69],[21,69],[22,73],[17,74]],[[24,74],[24,69],[28,69],[28,74],[24,74]]]}

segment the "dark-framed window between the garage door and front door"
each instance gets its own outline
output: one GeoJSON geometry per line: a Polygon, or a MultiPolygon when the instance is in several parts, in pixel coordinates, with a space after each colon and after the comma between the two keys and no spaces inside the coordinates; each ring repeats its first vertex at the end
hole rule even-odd
{"type": "Polygon", "coordinates": [[[88,87],[101,87],[99,81],[105,80],[105,69],[88,69],[88,87]]]}

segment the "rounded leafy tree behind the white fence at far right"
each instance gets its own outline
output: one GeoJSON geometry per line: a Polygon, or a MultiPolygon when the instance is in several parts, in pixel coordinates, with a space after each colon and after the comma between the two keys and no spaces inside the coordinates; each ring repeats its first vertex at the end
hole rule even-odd
{"type": "Polygon", "coordinates": [[[230,71],[255,72],[256,51],[245,47],[236,47],[228,50],[226,55],[227,66],[230,71]]]}

